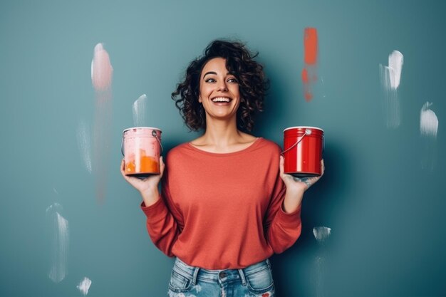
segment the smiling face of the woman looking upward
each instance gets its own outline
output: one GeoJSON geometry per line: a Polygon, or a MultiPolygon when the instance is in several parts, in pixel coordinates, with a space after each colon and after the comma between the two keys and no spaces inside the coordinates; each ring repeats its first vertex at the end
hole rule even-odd
{"type": "Polygon", "coordinates": [[[199,102],[208,116],[230,119],[240,104],[239,82],[226,68],[224,58],[209,60],[199,78],[199,102]]]}

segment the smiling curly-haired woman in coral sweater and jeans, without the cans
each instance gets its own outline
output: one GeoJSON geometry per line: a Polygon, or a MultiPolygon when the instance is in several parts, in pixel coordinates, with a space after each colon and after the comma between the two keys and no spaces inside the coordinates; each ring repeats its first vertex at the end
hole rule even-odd
{"type": "Polygon", "coordinates": [[[169,296],[272,297],[268,258],[301,234],[301,201],[320,177],[284,174],[279,145],[242,131],[267,88],[255,56],[242,43],[210,43],[172,93],[186,125],[204,134],[170,150],[160,175],[128,177],[121,164],[153,243],[177,257],[169,296]]]}

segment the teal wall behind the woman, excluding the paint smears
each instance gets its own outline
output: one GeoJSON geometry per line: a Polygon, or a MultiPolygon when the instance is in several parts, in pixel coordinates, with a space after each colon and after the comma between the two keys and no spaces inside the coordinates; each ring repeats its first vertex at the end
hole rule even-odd
{"type": "Polygon", "coordinates": [[[259,51],[271,80],[254,135],[281,144],[285,127],[326,132],[326,175],[305,194],[301,238],[271,259],[278,296],[446,296],[445,12],[443,1],[1,1],[0,296],[82,296],[84,276],[88,296],[166,296],[173,260],[151,243],[141,199],[120,176],[121,132],[146,93],[167,149],[196,137],[170,93],[221,37],[259,51]],[[319,41],[311,102],[308,26],[319,41]],[[114,69],[103,199],[76,137],[98,112],[97,43],[114,69]],[[393,50],[404,55],[401,125],[389,129],[378,66],[393,50]],[[422,169],[426,101],[440,124],[435,163],[422,169]],[[69,226],[58,283],[48,278],[54,203],[69,226]],[[314,226],[331,228],[325,244],[314,226]]]}

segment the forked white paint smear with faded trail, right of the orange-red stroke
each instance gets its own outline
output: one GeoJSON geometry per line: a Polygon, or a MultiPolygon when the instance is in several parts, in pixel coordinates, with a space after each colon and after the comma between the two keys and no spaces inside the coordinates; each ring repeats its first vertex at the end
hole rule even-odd
{"type": "Polygon", "coordinates": [[[380,64],[380,82],[383,88],[383,109],[388,128],[400,126],[400,100],[398,87],[400,86],[401,73],[403,71],[403,54],[393,51],[388,58],[388,66],[380,64]]]}

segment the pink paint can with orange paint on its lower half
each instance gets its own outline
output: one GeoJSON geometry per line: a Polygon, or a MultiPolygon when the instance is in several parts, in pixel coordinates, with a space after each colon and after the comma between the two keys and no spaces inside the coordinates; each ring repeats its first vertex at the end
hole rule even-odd
{"type": "Polygon", "coordinates": [[[132,127],[123,131],[121,152],[125,175],[148,177],[160,174],[161,130],[154,127],[132,127]]]}

